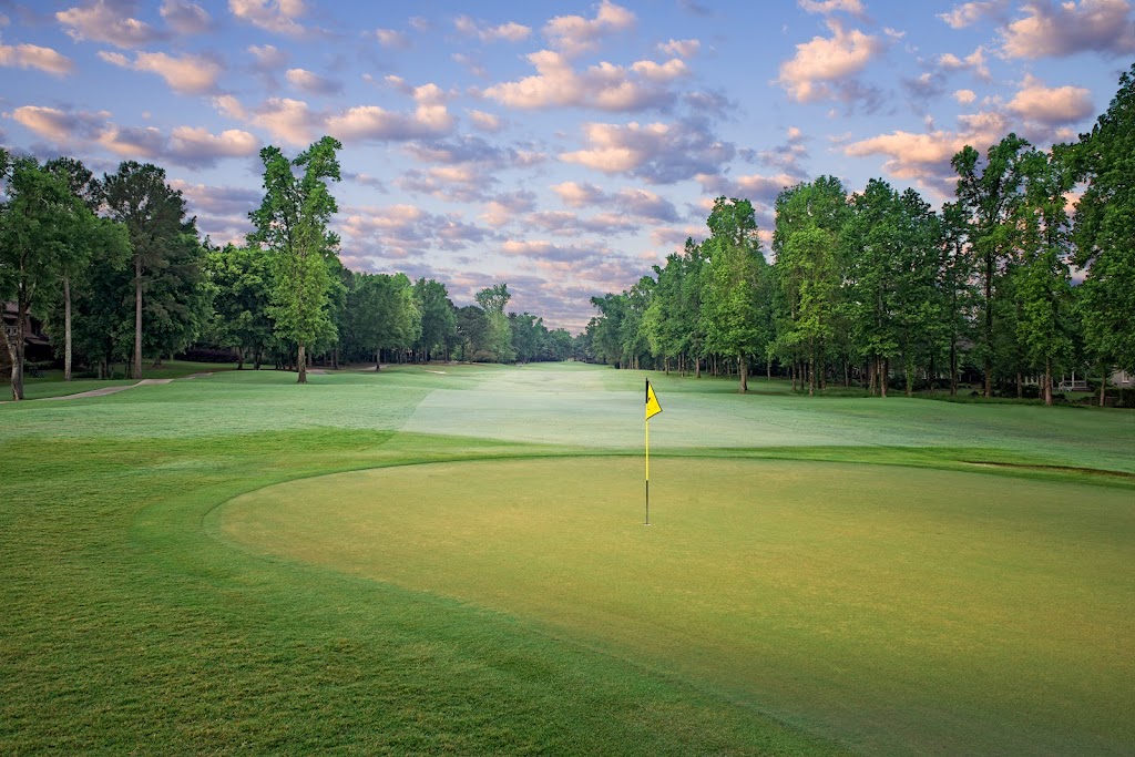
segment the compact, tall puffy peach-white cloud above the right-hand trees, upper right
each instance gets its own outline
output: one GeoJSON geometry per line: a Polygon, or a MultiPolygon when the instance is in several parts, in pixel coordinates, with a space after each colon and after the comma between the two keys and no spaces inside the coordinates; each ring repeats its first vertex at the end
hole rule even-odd
{"type": "Polygon", "coordinates": [[[859,30],[846,32],[834,20],[827,22],[827,28],[831,37],[816,36],[796,45],[796,56],[781,64],[776,83],[797,102],[850,101],[867,94],[852,77],[883,52],[882,41],[859,30]]]}

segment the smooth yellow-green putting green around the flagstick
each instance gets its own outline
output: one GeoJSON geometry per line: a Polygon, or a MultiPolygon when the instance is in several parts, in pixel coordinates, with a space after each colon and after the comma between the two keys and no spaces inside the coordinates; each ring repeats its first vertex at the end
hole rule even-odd
{"type": "Polygon", "coordinates": [[[784,461],[438,463],[219,508],[253,552],[452,597],[872,752],[1135,743],[1129,490],[784,461]]]}

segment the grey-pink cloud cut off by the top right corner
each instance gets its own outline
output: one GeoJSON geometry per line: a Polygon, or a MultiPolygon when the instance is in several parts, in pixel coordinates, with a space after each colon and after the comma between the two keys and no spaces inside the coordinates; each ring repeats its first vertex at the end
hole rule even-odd
{"type": "Polygon", "coordinates": [[[1035,0],[1026,2],[1023,10],[1027,15],[1001,32],[1001,50],[1009,58],[1135,52],[1135,22],[1129,0],[1079,0],[1059,6],[1035,0]]]}

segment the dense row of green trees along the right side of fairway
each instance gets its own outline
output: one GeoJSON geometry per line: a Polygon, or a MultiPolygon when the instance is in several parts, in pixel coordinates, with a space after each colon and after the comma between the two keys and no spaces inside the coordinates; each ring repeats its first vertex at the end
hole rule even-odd
{"type": "Polygon", "coordinates": [[[1135,372],[1135,66],[1119,84],[1075,143],[960,150],[940,211],[882,179],[785,188],[773,263],[753,204],[718,197],[708,238],[592,298],[587,344],[617,365],[735,372],[741,392],[763,363],[809,395],[858,382],[886,396],[892,380],[956,395],[972,375],[986,397],[1019,397],[1035,377],[1051,404],[1053,377],[1091,371],[1102,404],[1112,370],[1135,372]]]}

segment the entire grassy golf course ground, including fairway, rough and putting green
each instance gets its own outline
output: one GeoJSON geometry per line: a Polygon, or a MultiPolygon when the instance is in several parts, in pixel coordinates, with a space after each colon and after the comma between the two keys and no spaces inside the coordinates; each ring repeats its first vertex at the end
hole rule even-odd
{"type": "Polygon", "coordinates": [[[1132,754],[1132,411],[735,389],[2,404],[0,754],[1132,754]]]}

